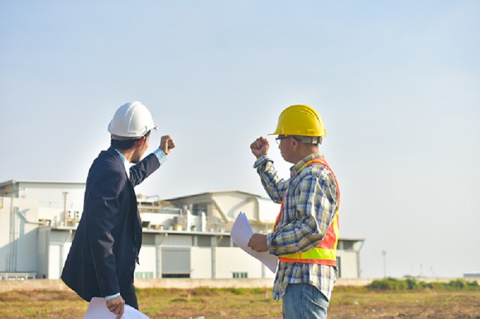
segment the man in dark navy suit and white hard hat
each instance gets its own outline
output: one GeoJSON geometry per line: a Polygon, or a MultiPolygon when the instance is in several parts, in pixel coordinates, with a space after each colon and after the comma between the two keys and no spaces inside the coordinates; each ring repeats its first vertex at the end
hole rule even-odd
{"type": "Polygon", "coordinates": [[[134,288],[142,227],[134,186],[154,173],[175,147],[170,136],[144,159],[156,124],[140,102],[119,107],[108,131],[111,146],[101,151],[86,180],[84,212],[65,261],[62,280],[86,301],[105,297],[123,315],[125,303],[139,309],[134,288]],[[135,164],[128,168],[130,163],[135,164]]]}

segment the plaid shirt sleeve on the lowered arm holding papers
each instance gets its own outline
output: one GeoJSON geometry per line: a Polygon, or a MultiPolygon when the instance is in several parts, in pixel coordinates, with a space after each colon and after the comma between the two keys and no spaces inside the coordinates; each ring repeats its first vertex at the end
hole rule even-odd
{"type": "Polygon", "coordinates": [[[310,166],[299,175],[300,181],[289,190],[284,200],[278,221],[280,226],[267,234],[269,251],[274,255],[315,248],[335,217],[337,188],[331,173],[322,166],[310,166]]]}

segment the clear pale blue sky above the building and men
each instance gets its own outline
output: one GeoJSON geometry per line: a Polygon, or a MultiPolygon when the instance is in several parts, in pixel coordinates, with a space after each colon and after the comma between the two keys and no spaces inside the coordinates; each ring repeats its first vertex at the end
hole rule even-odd
{"type": "Polygon", "coordinates": [[[85,181],[138,100],[177,148],[137,193],[266,196],[250,143],[308,104],[362,277],[480,272],[479,34],[475,0],[3,0],[0,181],[85,181]]]}

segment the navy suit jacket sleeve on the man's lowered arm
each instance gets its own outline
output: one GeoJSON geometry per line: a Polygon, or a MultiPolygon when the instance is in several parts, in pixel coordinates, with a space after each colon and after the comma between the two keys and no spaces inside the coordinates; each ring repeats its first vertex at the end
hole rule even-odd
{"type": "Polygon", "coordinates": [[[87,201],[88,239],[103,296],[120,292],[113,251],[115,240],[111,231],[119,214],[119,195],[125,187],[126,178],[123,172],[106,170],[93,185],[93,190],[89,194],[90,199],[87,201]]]}

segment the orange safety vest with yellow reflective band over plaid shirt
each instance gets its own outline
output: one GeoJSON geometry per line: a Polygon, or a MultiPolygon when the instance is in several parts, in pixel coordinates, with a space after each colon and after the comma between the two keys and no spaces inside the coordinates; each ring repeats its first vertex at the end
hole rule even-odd
{"type": "MultiPolygon", "coordinates": [[[[304,164],[304,166],[302,166],[300,170],[304,169],[305,167],[311,164],[320,164],[325,166],[328,170],[330,170],[330,172],[333,175],[333,178],[335,179],[335,184],[337,185],[337,199],[338,199],[338,205],[340,205],[340,188],[338,186],[337,177],[335,177],[335,174],[333,174],[333,171],[331,170],[330,166],[328,166],[328,164],[325,162],[324,159],[314,158],[314,159],[311,159],[306,164],[304,164]]],[[[298,173],[300,173],[300,170],[298,170],[298,173]]],[[[280,216],[282,214],[283,201],[285,200],[285,195],[287,194],[287,192],[285,192],[285,194],[283,195],[282,205],[280,207],[280,213],[278,213],[278,216],[275,221],[274,231],[277,227],[278,220],[280,219],[280,216]]],[[[333,218],[333,222],[331,223],[330,227],[328,227],[325,237],[320,242],[320,244],[318,244],[316,248],[311,248],[309,251],[305,251],[303,253],[281,255],[280,257],[278,257],[278,260],[286,261],[286,262],[301,262],[304,264],[323,264],[327,266],[337,266],[337,243],[338,243],[338,229],[339,229],[338,212],[339,210],[337,206],[337,212],[335,213],[335,218],[333,218]]]]}

